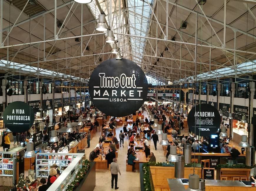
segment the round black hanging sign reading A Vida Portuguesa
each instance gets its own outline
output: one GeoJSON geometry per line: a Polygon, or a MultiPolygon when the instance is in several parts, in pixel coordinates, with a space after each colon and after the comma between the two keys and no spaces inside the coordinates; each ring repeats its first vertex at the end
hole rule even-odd
{"type": "Polygon", "coordinates": [[[4,110],[4,125],[12,132],[22,133],[28,131],[34,120],[34,111],[22,101],[10,103],[4,110]]]}

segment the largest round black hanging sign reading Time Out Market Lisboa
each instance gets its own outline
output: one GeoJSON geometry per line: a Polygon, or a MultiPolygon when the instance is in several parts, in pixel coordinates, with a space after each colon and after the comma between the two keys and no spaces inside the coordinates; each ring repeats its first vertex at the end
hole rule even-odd
{"type": "Polygon", "coordinates": [[[89,80],[94,105],[106,115],[123,117],[136,112],[147,98],[142,69],[127,59],[109,59],[97,66],[89,80]]]}

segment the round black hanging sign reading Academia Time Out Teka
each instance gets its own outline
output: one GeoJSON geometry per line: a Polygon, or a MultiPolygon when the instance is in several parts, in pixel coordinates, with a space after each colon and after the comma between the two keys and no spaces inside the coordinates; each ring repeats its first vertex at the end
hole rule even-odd
{"type": "Polygon", "coordinates": [[[210,104],[196,105],[187,116],[187,125],[196,135],[208,137],[220,128],[220,113],[210,104]]]}

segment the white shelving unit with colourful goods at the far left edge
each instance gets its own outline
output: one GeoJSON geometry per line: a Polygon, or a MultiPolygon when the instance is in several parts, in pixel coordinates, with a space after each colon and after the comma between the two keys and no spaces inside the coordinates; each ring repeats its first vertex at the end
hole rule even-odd
{"type": "Polygon", "coordinates": [[[13,186],[16,183],[16,152],[0,152],[0,185],[13,186]]]}

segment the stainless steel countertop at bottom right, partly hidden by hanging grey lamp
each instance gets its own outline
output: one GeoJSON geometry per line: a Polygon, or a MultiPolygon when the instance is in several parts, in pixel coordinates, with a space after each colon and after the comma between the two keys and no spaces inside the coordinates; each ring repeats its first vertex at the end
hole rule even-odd
{"type": "MultiPolygon", "coordinates": [[[[250,181],[246,181],[250,182],[250,181]]],[[[168,184],[171,190],[185,190],[184,185],[188,185],[188,179],[171,179],[168,178],[168,184]]],[[[232,187],[252,187],[245,185],[242,181],[232,180],[205,180],[205,186],[232,186],[232,187]]]]}

